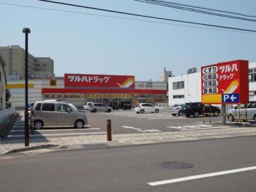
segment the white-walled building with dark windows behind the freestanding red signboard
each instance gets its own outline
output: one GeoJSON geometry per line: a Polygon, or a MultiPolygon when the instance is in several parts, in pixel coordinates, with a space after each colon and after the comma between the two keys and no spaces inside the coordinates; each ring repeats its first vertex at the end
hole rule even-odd
{"type": "MultiPolygon", "coordinates": [[[[249,100],[256,100],[256,62],[249,63],[249,100]]],[[[201,102],[201,73],[169,78],[169,106],[201,102]]]]}

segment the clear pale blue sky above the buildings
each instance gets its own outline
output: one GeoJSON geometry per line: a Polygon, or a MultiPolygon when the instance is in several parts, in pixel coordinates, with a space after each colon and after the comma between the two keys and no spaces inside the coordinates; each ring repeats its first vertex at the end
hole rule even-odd
{"type": "MultiPolygon", "coordinates": [[[[133,0],[59,1],[256,30],[254,22],[173,10],[133,0]]],[[[254,14],[256,10],[254,0],[173,1],[247,14],[254,14]]],[[[36,0],[0,0],[0,3],[128,17],[36,0]]],[[[148,81],[150,78],[157,81],[164,67],[179,75],[189,67],[199,69],[202,65],[235,59],[256,61],[256,33],[190,28],[174,22],[168,22],[171,25],[149,23],[3,4],[0,4],[0,17],[0,46],[24,47],[22,29],[30,28],[30,53],[54,59],[56,76],[65,73],[125,74],[135,75],[136,81],[148,81]]]]}

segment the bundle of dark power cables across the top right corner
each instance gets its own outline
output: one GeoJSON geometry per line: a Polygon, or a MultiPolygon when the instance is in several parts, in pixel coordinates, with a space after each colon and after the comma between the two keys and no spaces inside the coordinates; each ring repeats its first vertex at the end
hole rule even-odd
{"type": "Polygon", "coordinates": [[[179,10],[199,12],[199,13],[202,13],[202,14],[210,14],[210,15],[219,16],[219,17],[226,17],[226,18],[230,18],[230,19],[239,19],[239,20],[243,20],[243,21],[256,22],[255,19],[248,19],[248,18],[245,18],[245,17],[237,17],[237,16],[233,16],[233,15],[228,15],[228,14],[222,14],[222,13],[217,13],[217,12],[209,12],[209,11],[206,11],[206,10],[199,10],[199,9],[191,8],[190,6],[183,6],[183,4],[180,4],[182,6],[176,6],[175,4],[173,5],[173,3],[170,3],[168,1],[155,1],[155,0],[134,0],[134,1],[139,1],[139,2],[142,2],[142,3],[149,3],[149,4],[153,4],[153,5],[157,5],[157,6],[164,6],[164,7],[168,7],[168,8],[175,8],[175,9],[179,9],[179,10]]]}

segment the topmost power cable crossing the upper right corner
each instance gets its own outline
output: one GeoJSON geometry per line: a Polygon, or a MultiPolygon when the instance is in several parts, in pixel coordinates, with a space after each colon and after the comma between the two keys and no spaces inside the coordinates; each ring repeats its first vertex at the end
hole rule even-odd
{"type": "MultiPolygon", "coordinates": [[[[156,0],[152,0],[152,1],[156,1],[156,0]]],[[[244,16],[244,17],[255,17],[256,18],[256,15],[245,14],[245,13],[241,13],[241,12],[231,12],[231,11],[228,11],[228,10],[206,8],[206,7],[202,7],[202,6],[193,6],[193,5],[184,4],[184,3],[176,3],[176,2],[173,2],[173,1],[160,1],[160,0],[158,0],[158,2],[164,2],[164,3],[169,3],[169,4],[173,4],[173,5],[177,5],[177,6],[186,6],[186,7],[190,7],[190,8],[199,8],[199,9],[202,9],[202,10],[211,10],[211,11],[215,11],[215,12],[224,12],[224,13],[228,13],[228,14],[237,14],[237,15],[244,16]]]]}

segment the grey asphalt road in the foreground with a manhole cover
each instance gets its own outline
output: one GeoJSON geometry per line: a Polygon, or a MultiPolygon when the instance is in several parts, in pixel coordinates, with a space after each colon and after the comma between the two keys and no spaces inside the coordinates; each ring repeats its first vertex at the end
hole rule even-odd
{"type": "Polygon", "coordinates": [[[256,168],[184,180],[191,175],[255,167],[255,145],[256,137],[244,137],[0,158],[0,186],[5,192],[255,191],[256,168]],[[169,169],[160,166],[163,162],[186,162],[193,167],[169,169]],[[184,181],[150,185],[176,178],[184,181]]]}

